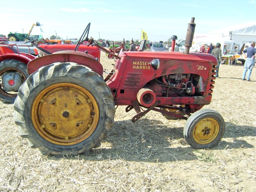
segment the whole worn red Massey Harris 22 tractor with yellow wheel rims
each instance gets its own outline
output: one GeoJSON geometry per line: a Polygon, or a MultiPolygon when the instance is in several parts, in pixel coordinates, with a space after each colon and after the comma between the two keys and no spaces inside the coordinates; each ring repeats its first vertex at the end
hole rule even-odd
{"type": "Polygon", "coordinates": [[[225,131],[223,118],[214,110],[200,110],[211,102],[217,59],[189,53],[194,18],[188,24],[184,53],[116,55],[91,38],[90,44],[115,57],[115,66],[105,79],[100,62],[76,51],[88,41],[89,29],[90,23],[75,51],[45,52],[28,63],[29,76],[14,102],[14,120],[31,148],[57,157],[88,154],[107,137],[118,105],[127,106],[126,112],[137,112],[132,122],[150,110],[167,119],[186,119],[184,137],[193,148],[218,144],[225,131]]]}

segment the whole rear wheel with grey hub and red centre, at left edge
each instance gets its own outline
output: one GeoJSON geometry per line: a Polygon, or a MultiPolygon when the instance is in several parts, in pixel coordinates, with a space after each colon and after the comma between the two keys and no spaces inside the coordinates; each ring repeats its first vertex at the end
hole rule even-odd
{"type": "Polygon", "coordinates": [[[14,103],[18,90],[28,78],[27,65],[21,61],[8,59],[0,63],[0,100],[14,103]]]}

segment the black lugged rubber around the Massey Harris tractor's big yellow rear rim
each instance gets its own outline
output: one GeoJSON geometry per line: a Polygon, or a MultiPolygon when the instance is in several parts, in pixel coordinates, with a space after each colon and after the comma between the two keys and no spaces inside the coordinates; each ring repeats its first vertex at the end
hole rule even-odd
{"type": "Polygon", "coordinates": [[[39,148],[43,155],[62,156],[89,154],[90,149],[100,147],[114,125],[114,97],[104,80],[90,68],[76,63],[53,63],[38,69],[22,84],[14,102],[14,121],[19,125],[20,136],[27,138],[31,148],[39,148]],[[85,140],[74,145],[58,145],[44,139],[32,122],[31,108],[36,96],[46,87],[57,83],[79,85],[89,91],[97,101],[99,120],[95,130],[85,140]]]}

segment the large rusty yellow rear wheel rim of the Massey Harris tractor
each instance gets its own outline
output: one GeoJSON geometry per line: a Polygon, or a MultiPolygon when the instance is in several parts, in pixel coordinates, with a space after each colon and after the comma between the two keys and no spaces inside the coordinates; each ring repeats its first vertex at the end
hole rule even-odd
{"type": "Polygon", "coordinates": [[[46,87],[37,95],[31,112],[36,131],[58,145],[74,145],[87,139],[99,121],[95,98],[71,83],[46,87]]]}

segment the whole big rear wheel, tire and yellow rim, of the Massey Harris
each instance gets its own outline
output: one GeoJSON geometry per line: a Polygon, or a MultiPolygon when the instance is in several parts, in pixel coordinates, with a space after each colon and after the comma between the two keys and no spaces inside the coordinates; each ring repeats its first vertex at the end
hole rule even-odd
{"type": "Polygon", "coordinates": [[[43,155],[88,154],[114,125],[115,103],[104,80],[76,63],[53,63],[28,77],[14,102],[20,136],[43,155]]]}

